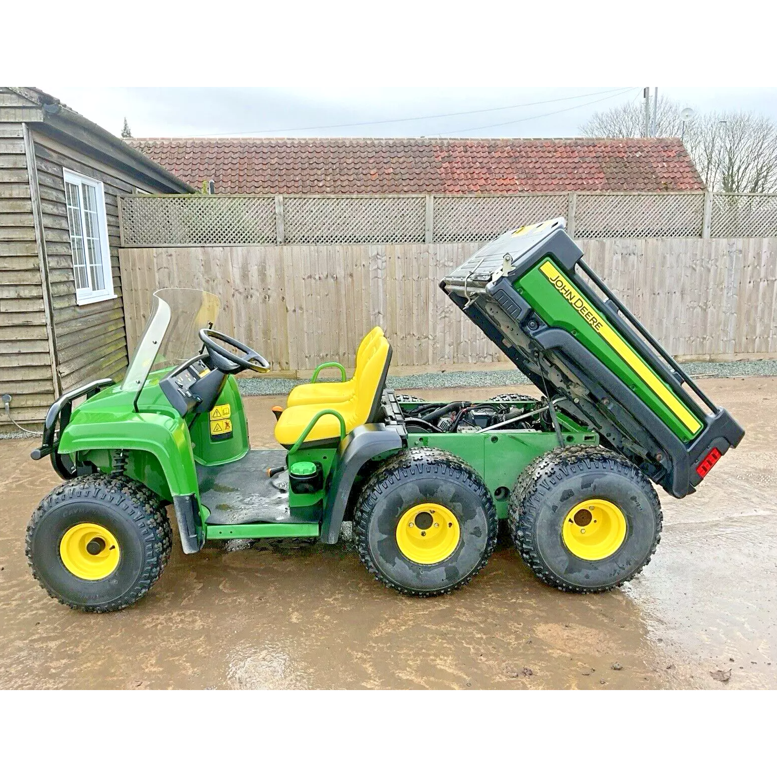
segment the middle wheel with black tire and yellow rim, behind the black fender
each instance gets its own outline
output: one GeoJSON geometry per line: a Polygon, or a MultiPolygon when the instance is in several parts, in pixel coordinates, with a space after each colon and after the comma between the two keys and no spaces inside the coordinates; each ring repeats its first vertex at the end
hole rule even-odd
{"type": "Polygon", "coordinates": [[[402,594],[461,587],[497,544],[497,510],[483,479],[437,448],[389,458],[364,484],[354,537],[364,566],[402,594]]]}

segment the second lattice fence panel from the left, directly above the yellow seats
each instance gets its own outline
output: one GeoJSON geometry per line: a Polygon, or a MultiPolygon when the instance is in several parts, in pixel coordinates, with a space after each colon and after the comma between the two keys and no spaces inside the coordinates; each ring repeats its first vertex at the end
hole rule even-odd
{"type": "Polygon", "coordinates": [[[284,242],[423,242],[424,197],[284,197],[284,242]]]}

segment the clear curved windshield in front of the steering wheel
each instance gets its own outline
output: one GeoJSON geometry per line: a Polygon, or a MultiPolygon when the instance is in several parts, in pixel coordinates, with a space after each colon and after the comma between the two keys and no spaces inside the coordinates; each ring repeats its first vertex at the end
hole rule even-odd
{"type": "Polygon", "coordinates": [[[199,289],[159,289],[151,315],[127,368],[122,389],[141,389],[152,369],[170,367],[193,357],[202,347],[197,333],[214,326],[220,303],[199,289]]]}

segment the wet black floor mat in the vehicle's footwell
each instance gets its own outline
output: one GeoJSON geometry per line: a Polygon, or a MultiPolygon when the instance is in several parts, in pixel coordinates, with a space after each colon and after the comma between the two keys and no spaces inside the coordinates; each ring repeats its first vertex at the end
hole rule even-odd
{"type": "Polygon", "coordinates": [[[291,523],[288,473],[267,477],[268,467],[286,462],[286,451],[248,451],[239,462],[197,465],[200,499],[211,510],[211,525],[291,523]]]}

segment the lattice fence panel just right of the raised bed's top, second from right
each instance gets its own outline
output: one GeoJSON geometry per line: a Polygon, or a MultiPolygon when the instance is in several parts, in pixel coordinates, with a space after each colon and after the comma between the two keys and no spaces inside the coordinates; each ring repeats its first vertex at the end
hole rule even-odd
{"type": "Polygon", "coordinates": [[[578,194],[576,238],[702,236],[704,194],[578,194]]]}

